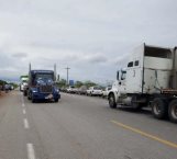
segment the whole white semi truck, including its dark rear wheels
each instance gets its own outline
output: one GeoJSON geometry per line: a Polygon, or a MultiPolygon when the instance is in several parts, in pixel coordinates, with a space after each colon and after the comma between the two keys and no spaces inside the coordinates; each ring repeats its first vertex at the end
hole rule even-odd
{"type": "Polygon", "coordinates": [[[156,118],[177,123],[177,47],[141,45],[117,73],[108,94],[111,109],[152,106],[156,118]]]}

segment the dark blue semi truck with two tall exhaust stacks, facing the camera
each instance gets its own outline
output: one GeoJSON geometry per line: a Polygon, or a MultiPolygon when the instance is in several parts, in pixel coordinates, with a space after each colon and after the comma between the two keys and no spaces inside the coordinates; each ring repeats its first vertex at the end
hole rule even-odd
{"type": "Polygon", "coordinates": [[[55,79],[55,70],[31,70],[30,66],[27,99],[33,103],[38,100],[58,102],[60,93],[55,79]]]}

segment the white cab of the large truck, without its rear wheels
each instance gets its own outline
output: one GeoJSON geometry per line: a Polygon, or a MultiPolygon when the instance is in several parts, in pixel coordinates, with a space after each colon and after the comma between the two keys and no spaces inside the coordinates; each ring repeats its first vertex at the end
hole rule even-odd
{"type": "Polygon", "coordinates": [[[117,73],[117,81],[109,92],[111,107],[117,104],[141,109],[155,94],[170,88],[173,52],[150,45],[141,45],[130,55],[126,68],[117,73]]]}

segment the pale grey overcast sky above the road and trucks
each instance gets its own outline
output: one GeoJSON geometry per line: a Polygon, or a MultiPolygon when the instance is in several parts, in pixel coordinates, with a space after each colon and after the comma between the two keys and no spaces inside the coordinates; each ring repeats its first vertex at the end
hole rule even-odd
{"type": "Polygon", "coordinates": [[[0,0],[0,78],[33,69],[106,82],[142,43],[177,45],[176,0],[0,0]]]}

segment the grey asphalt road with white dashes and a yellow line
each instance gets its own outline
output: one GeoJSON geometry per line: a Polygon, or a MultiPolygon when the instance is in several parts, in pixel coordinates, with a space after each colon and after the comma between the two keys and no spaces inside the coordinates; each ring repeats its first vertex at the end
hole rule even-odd
{"type": "Polygon", "coordinates": [[[177,125],[100,98],[33,104],[12,91],[0,98],[0,159],[177,159],[177,125]]]}

